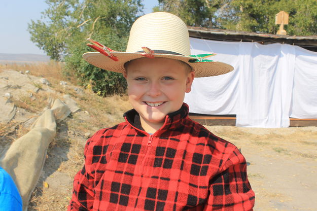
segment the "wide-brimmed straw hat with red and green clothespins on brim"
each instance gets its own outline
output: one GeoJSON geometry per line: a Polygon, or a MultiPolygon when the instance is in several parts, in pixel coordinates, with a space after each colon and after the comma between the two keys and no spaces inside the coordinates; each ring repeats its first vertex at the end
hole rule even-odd
{"type": "MultiPolygon", "coordinates": [[[[145,53],[147,51],[142,47],[147,47],[146,49],[149,51],[152,50],[154,57],[186,62],[192,67],[195,77],[218,76],[233,70],[231,65],[223,62],[207,60],[199,57],[200,55],[190,56],[186,24],[179,17],[165,12],[150,13],[138,18],[131,27],[126,52],[111,51],[108,48],[110,50],[108,54],[112,54],[110,57],[116,59],[105,56],[107,52],[105,54],[88,52],[83,54],[83,58],[102,69],[124,73],[124,63],[127,61],[151,56],[151,53],[145,53]]],[[[103,49],[105,48],[107,47],[103,46],[103,49]]]]}

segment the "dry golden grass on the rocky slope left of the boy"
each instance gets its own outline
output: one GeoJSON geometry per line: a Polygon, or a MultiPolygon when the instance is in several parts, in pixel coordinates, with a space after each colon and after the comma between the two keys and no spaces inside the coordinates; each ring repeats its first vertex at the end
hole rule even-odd
{"type": "MultiPolygon", "coordinates": [[[[48,93],[42,89],[42,84],[32,84],[40,90],[29,92],[26,96],[19,95],[11,98],[18,108],[31,113],[39,113],[47,106],[50,96],[62,99],[64,94],[71,95],[81,108],[81,111],[57,124],[56,136],[47,151],[47,159],[43,169],[44,178],[41,177],[33,191],[28,210],[65,210],[71,197],[72,184],[67,185],[66,191],[60,192],[58,189],[54,189],[51,184],[48,188],[43,187],[43,181],[51,177],[52,173],[56,171],[63,174],[68,180],[73,180],[74,175],[84,163],[83,149],[87,138],[83,134],[85,132],[94,133],[98,129],[124,121],[123,113],[131,109],[127,96],[101,97],[89,89],[85,90],[83,87],[73,86],[72,84],[76,83],[76,80],[65,78],[62,74],[62,67],[62,63],[54,61],[0,64],[0,71],[4,69],[30,71],[33,76],[46,78],[51,83],[51,88],[55,90],[55,93],[48,93]],[[60,81],[66,81],[67,85],[60,85],[60,81]],[[82,91],[76,91],[75,88],[82,91]]],[[[11,121],[9,125],[0,124],[0,141],[8,146],[14,139],[26,132],[20,123],[11,121]]]]}

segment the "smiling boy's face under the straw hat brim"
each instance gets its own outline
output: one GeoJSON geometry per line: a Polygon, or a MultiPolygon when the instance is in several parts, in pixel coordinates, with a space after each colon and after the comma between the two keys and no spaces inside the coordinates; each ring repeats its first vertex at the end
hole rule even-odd
{"type": "Polygon", "coordinates": [[[130,61],[124,77],[130,103],[141,121],[163,124],[167,114],[181,108],[195,74],[181,61],[156,57],[130,61]]]}

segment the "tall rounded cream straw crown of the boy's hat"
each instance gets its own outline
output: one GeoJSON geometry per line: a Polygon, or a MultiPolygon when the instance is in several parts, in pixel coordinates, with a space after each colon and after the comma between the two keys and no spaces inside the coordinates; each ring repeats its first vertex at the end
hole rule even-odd
{"type": "Polygon", "coordinates": [[[189,34],[179,17],[156,12],[138,18],[132,25],[126,52],[142,51],[141,47],[190,55],[189,34]]]}

